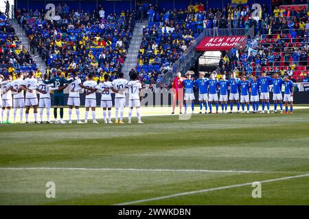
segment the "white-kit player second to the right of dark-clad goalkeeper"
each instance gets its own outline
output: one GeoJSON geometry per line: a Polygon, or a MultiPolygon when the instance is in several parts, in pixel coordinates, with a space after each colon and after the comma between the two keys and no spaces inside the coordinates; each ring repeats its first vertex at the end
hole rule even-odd
{"type": "Polygon", "coordinates": [[[86,111],[84,113],[84,123],[88,122],[89,108],[91,108],[93,123],[98,123],[97,120],[95,120],[95,107],[97,105],[97,99],[95,96],[96,91],[95,86],[97,86],[97,82],[93,81],[93,75],[89,74],[88,81],[84,81],[82,85],[86,87],[86,99],[84,103],[86,111]]]}

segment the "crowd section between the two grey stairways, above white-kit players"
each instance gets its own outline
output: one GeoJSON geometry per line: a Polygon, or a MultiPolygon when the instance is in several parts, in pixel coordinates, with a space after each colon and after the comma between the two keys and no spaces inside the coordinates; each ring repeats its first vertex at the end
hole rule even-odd
{"type": "Polygon", "coordinates": [[[84,12],[64,3],[56,6],[53,19],[43,15],[43,10],[25,9],[15,14],[29,37],[32,53],[37,50],[48,72],[56,75],[62,70],[69,77],[75,70],[82,80],[88,73],[103,78],[106,73],[117,76],[121,72],[135,27],[134,11],[107,15],[101,5],[84,12]]]}

